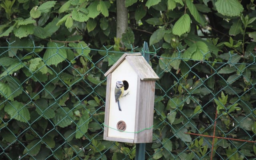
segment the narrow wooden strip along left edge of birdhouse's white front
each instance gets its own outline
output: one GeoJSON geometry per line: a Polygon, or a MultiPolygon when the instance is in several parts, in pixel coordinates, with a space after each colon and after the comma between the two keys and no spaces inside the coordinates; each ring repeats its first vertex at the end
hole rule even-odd
{"type": "Polygon", "coordinates": [[[110,84],[111,84],[111,73],[107,76],[107,88],[106,88],[106,102],[105,102],[105,118],[104,123],[104,133],[103,139],[106,140],[108,136],[108,119],[109,119],[109,108],[110,108],[110,84]]]}

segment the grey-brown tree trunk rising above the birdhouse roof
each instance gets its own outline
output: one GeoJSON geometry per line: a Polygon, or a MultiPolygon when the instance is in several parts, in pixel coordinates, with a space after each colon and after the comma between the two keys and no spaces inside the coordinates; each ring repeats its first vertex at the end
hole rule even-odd
{"type": "Polygon", "coordinates": [[[122,38],[128,27],[128,10],[125,7],[125,0],[116,0],[116,38],[122,38]]]}

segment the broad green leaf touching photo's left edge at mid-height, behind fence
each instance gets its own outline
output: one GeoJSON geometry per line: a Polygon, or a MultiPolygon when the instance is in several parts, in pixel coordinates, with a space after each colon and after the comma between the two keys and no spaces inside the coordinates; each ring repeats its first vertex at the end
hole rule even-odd
{"type": "Polygon", "coordinates": [[[22,94],[23,87],[20,86],[20,81],[14,77],[6,77],[7,83],[0,82],[0,94],[8,99],[13,101],[15,97],[22,94]]]}

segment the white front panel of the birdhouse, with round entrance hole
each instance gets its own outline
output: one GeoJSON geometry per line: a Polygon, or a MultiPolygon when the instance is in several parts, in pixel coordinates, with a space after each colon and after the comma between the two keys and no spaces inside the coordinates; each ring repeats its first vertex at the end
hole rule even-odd
{"type": "Polygon", "coordinates": [[[127,60],[124,60],[111,75],[108,137],[134,139],[138,75],[127,60]],[[124,90],[123,97],[119,99],[122,111],[118,109],[118,103],[115,101],[116,81],[126,81],[129,85],[127,90],[124,90]]]}

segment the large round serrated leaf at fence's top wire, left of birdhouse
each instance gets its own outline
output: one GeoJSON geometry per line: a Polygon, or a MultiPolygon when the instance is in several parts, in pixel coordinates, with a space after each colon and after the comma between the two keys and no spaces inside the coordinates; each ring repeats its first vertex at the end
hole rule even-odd
{"type": "Polygon", "coordinates": [[[44,54],[44,61],[47,65],[55,65],[63,62],[67,58],[67,53],[65,49],[57,48],[54,42],[48,42],[47,48],[44,54]]]}

